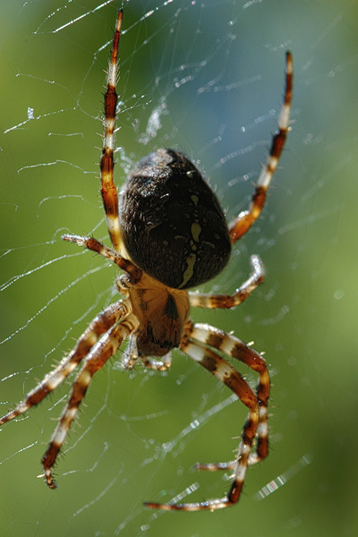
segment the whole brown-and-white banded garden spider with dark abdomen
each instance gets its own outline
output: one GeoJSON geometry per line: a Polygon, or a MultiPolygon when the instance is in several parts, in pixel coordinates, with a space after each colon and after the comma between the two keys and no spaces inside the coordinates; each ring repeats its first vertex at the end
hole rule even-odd
{"type": "Polygon", "coordinates": [[[199,511],[232,506],[240,498],[248,465],[268,456],[269,376],[264,359],[231,334],[192,322],[191,306],[233,308],[260,285],[264,270],[258,256],[251,257],[251,276],[233,295],[197,294],[188,291],[209,281],[226,266],[232,244],[260,216],[268,185],[286,141],[292,93],[292,55],[286,53],[285,100],[273,136],[266,166],[248,210],[226,225],[215,194],[192,162],[180,151],[157,149],[143,158],[128,176],[119,200],[114,183],[117,55],[123,12],[115,25],[105,95],[101,193],[113,248],[94,238],[64,234],[77,243],[112,260],[123,271],[116,286],[124,298],[108,306],[91,321],[70,354],[33,388],[0,424],[9,422],[38,403],[59,386],[81,363],[72,393],[42,458],[43,476],[55,489],[52,468],[81,400],[94,373],[111,358],[124,339],[129,339],[125,367],[138,357],[146,367],[165,371],[171,350],[179,347],[221,380],[249,408],[236,459],[230,463],[197,465],[200,470],[231,469],[234,481],[227,495],[201,503],[152,503],[150,508],[199,511]],[[222,354],[243,362],[259,374],[256,392],[222,354]],[[255,440],[255,448],[252,443],[255,440]]]}

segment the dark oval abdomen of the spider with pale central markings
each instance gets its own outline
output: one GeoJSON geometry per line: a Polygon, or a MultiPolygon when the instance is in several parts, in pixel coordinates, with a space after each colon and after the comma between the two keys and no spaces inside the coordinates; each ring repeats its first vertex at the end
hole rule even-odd
{"type": "Polygon", "coordinates": [[[134,166],[119,213],[132,260],[166,286],[199,286],[229,260],[231,241],[217,197],[180,151],[158,149],[134,166]]]}

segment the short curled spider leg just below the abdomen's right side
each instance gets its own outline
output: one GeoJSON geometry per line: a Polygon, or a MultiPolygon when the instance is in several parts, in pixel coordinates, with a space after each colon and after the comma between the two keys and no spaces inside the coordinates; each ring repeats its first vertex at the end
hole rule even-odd
{"type": "Polygon", "coordinates": [[[258,255],[252,255],[250,262],[251,275],[234,294],[189,293],[191,306],[198,308],[234,308],[234,306],[242,303],[256,287],[260,286],[265,276],[265,269],[258,255]]]}

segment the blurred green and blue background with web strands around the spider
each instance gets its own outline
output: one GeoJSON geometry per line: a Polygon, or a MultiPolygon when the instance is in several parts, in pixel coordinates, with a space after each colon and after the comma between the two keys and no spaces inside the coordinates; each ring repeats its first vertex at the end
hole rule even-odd
{"type": "MultiPolygon", "coordinates": [[[[120,5],[1,7],[4,412],[116,299],[115,269],[60,236],[107,242],[98,133],[120,5]]],[[[166,374],[140,365],[123,372],[118,354],[90,386],[56,468],[57,490],[35,476],[69,385],[1,430],[1,534],[355,535],[356,5],[132,0],[123,7],[115,182],[151,149],[183,149],[217,188],[228,217],[250,200],[276,129],[285,50],[294,53],[293,130],[267,207],[206,291],[233,292],[252,253],[264,260],[266,282],[236,311],[193,312],[266,350],[271,453],[249,471],[240,505],[226,512],[145,510],[144,500],[222,496],[230,476],[195,473],[192,465],[231,458],[245,411],[179,353],[166,374]]]]}

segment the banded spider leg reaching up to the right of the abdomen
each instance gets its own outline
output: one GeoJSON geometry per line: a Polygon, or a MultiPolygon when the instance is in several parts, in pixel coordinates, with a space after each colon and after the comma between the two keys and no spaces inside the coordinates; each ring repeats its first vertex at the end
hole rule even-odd
{"type": "Polygon", "coordinates": [[[272,145],[269,151],[268,160],[260,173],[260,177],[256,185],[255,192],[253,193],[249,209],[240,213],[239,216],[234,219],[234,222],[232,222],[229,226],[232,243],[240,239],[240,237],[242,237],[243,234],[245,234],[250,229],[252,224],[260,216],[260,212],[264,206],[269,183],[272,179],[272,175],[274,175],[276,171],[278,160],[286,142],[292,98],[292,78],[292,55],[290,52],[287,52],[286,89],[284,96],[284,104],[278,117],[278,130],[272,139],[272,145]]]}

